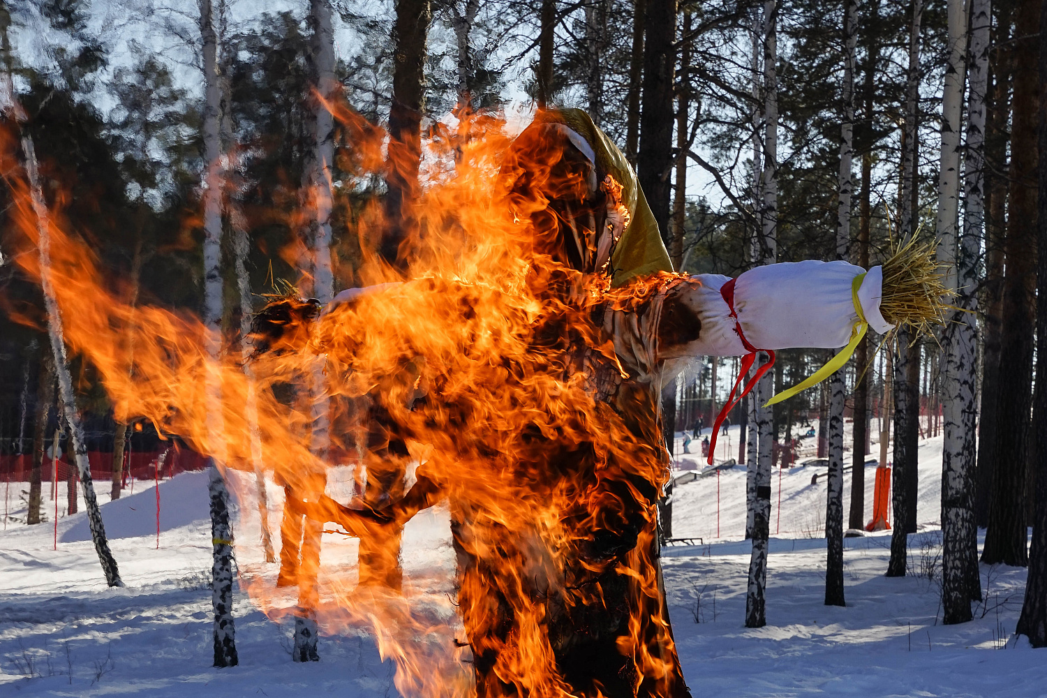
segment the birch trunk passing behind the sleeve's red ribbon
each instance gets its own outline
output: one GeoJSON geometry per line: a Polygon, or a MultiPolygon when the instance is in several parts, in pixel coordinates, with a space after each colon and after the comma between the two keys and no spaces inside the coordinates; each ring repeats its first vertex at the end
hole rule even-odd
{"type": "MultiPolygon", "coordinates": [[[[760,264],[774,264],[777,254],[778,227],[778,4],[763,3],[763,222],[760,264]]],[[[761,354],[761,361],[764,357],[761,354]]],[[[749,562],[749,587],[745,593],[745,627],[766,625],[764,590],[767,582],[767,546],[771,536],[771,466],[774,419],[763,404],[774,391],[773,378],[764,374],[756,387],[756,431],[759,453],[756,464],[756,501],[753,512],[753,553],[749,562]]]]}

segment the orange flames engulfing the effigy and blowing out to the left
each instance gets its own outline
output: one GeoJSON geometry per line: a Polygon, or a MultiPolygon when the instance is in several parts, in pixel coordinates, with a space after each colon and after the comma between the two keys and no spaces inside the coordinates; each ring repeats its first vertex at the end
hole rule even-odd
{"type": "MultiPolygon", "coordinates": [[[[382,134],[335,113],[360,141],[354,166],[378,166],[382,134]]],[[[59,202],[51,273],[67,342],[97,367],[118,420],[149,419],[224,468],[249,469],[244,405],[254,396],[264,461],[296,493],[288,505],[360,537],[361,581],[377,575],[358,588],[321,576],[321,627],[370,627],[397,662],[401,695],[686,695],[656,561],[655,501],[668,470],[653,336],[662,299],[683,278],[611,288],[602,272],[628,225],[622,186],[600,182],[592,210],[571,211],[592,225],[566,229],[555,201],[593,199],[594,189],[564,139],[535,131],[514,143],[497,120],[474,117],[459,137],[426,148],[428,159],[452,164],[431,173],[411,208],[406,272],[372,256],[357,277],[394,284],[318,317],[292,298],[270,306],[269,324],[257,323],[267,332],[254,338],[253,387],[238,353],[214,365],[197,318],[124,302],[59,202]],[[322,390],[288,399],[286,385],[307,385],[318,365],[322,390]],[[222,386],[220,434],[206,419],[208,371],[222,386]],[[328,410],[333,443],[366,444],[369,479],[389,480],[389,501],[347,509],[321,496],[334,464],[314,447],[313,401],[328,410]],[[407,456],[394,447],[406,441],[429,456],[404,496],[407,456]],[[464,638],[453,609],[382,584],[400,527],[438,500],[451,511],[464,638]]],[[[4,172],[13,153],[8,140],[4,172]]],[[[29,197],[20,178],[8,184],[30,251],[29,197]]],[[[375,249],[380,213],[356,225],[342,234],[375,249]]],[[[39,275],[36,255],[16,260],[39,275]]],[[[261,608],[285,612],[269,583],[242,583],[261,608]]]]}

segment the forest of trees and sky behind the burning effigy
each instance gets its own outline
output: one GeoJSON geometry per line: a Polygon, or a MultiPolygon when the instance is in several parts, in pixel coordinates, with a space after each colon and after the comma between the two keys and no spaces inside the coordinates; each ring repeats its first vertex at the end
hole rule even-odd
{"type": "MultiPolygon", "coordinates": [[[[280,279],[306,290],[312,283],[298,250],[325,222],[298,212],[315,183],[317,86],[328,80],[321,57],[329,54],[333,83],[322,97],[397,142],[453,138],[468,114],[498,115],[518,130],[536,108],[585,109],[633,162],[683,271],[736,275],[771,260],[841,255],[868,266],[889,255],[892,240],[946,241],[944,262],[959,258],[970,272],[970,283],[954,285],[957,305],[977,308],[962,314],[975,351],[961,366],[976,409],[970,421],[950,422],[958,379],[944,367],[948,332],[879,352],[882,338],[870,338],[838,381],[841,409],[855,424],[848,470],[864,468],[870,440],[863,425],[893,414],[895,481],[904,483],[895,511],[915,506],[915,467],[906,470],[915,448],[907,455],[906,444],[921,427],[911,413],[940,415],[946,433],[950,424],[964,431],[954,440],[971,458],[961,509],[987,526],[983,559],[1025,565],[1026,526],[1045,499],[1037,473],[1047,461],[1037,448],[1047,391],[1037,391],[1032,419],[1034,346],[1044,329],[1035,293],[1041,14],[1029,0],[966,7],[923,0],[313,0],[281,7],[203,0],[130,8],[6,0],[0,31],[2,68],[24,110],[17,120],[36,143],[48,196],[67,193],[66,216],[114,287],[137,302],[203,309],[203,182],[214,166],[206,122],[218,110],[227,233],[221,324],[230,343],[280,279]],[[203,72],[208,45],[217,82],[203,72]],[[217,88],[217,104],[205,85],[217,88]],[[979,109],[981,138],[972,151],[968,114],[979,109]],[[962,139],[949,140],[960,131],[962,139]],[[951,184],[941,166],[950,153],[957,158],[951,184]],[[853,170],[841,164],[850,158],[853,170]]],[[[4,119],[16,120],[10,110],[4,119]]],[[[361,280],[355,222],[402,183],[363,171],[358,127],[335,120],[330,128],[327,224],[331,287],[339,290],[361,280]]],[[[425,186],[441,163],[418,153],[425,186]]],[[[0,193],[0,203],[7,197],[0,193]]],[[[5,240],[0,250],[9,249],[5,240]]],[[[42,351],[43,299],[17,265],[0,262],[0,454],[40,453],[59,427],[53,368],[42,351]]],[[[827,358],[782,352],[774,389],[827,358]]],[[[73,357],[71,367],[91,450],[122,452],[131,427],[113,420],[92,366],[73,357]]],[[[698,414],[711,422],[736,371],[728,360],[686,373],[666,398],[669,430],[698,414]]],[[[828,420],[831,392],[827,384],[776,406],[776,437],[790,442],[801,415],[828,420]]],[[[739,407],[731,419],[748,424],[752,411],[739,407]]],[[[147,449],[156,434],[139,426],[131,433],[147,449]]],[[[851,480],[857,513],[848,526],[861,527],[864,478],[851,480]]],[[[903,516],[898,527],[908,525],[903,516]]],[[[1037,550],[1034,559],[1045,557],[1037,550]]]]}

